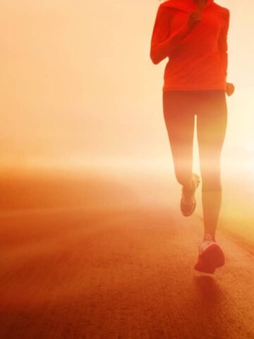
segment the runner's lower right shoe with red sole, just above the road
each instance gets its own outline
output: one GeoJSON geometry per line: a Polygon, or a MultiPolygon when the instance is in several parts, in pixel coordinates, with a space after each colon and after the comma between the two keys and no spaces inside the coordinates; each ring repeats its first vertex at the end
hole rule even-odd
{"type": "Polygon", "coordinates": [[[203,273],[214,273],[214,270],[224,266],[224,263],[225,258],[221,246],[217,244],[209,233],[205,234],[199,246],[198,262],[194,266],[195,270],[203,273]]]}

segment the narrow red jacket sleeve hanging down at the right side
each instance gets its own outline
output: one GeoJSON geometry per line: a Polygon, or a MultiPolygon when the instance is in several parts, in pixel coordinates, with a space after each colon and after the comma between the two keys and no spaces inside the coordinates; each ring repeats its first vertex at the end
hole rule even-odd
{"type": "Polygon", "coordinates": [[[224,23],[222,25],[221,32],[219,34],[218,47],[219,47],[219,59],[221,63],[222,74],[225,77],[227,75],[227,66],[228,66],[228,46],[227,46],[227,34],[229,30],[229,11],[226,10],[224,14],[224,23]]]}

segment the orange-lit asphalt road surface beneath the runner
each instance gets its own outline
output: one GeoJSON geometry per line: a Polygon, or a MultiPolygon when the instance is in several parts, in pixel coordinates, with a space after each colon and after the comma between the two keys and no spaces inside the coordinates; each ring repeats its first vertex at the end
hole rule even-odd
{"type": "Polygon", "coordinates": [[[198,215],[114,191],[1,213],[0,338],[254,338],[253,256],[218,233],[226,266],[198,273],[198,215]]]}

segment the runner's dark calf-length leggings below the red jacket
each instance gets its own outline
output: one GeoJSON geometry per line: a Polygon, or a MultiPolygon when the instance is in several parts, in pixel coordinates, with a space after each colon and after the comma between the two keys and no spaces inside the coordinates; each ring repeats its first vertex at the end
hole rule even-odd
{"type": "Polygon", "coordinates": [[[185,185],[191,179],[193,133],[197,115],[202,191],[222,191],[220,154],[227,119],[224,91],[164,92],[163,110],[178,182],[185,185]]]}

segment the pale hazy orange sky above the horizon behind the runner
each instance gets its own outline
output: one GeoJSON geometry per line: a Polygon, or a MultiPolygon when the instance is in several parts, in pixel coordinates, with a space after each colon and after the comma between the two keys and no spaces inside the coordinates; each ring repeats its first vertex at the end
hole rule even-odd
{"type": "MultiPolygon", "coordinates": [[[[231,11],[225,152],[254,155],[254,4],[231,11]]],[[[165,157],[157,0],[0,0],[1,159],[165,157]]]]}

